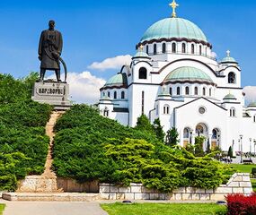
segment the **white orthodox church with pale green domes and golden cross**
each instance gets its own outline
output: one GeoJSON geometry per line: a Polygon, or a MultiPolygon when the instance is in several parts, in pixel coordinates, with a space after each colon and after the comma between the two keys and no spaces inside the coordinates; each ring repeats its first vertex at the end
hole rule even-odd
{"type": "Polygon", "coordinates": [[[102,116],[135,126],[145,114],[159,118],[166,132],[176,127],[180,144],[204,135],[211,147],[255,151],[256,103],[245,106],[241,68],[227,55],[217,61],[199,27],[177,18],[155,22],[137,44],[130,65],[101,89],[102,116]]]}

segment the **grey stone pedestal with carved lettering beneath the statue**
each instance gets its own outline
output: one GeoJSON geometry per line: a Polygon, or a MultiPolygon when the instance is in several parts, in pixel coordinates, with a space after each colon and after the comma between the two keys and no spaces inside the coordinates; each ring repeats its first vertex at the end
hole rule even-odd
{"type": "Polygon", "coordinates": [[[35,82],[32,99],[55,107],[68,108],[71,106],[69,85],[65,82],[35,82]]]}

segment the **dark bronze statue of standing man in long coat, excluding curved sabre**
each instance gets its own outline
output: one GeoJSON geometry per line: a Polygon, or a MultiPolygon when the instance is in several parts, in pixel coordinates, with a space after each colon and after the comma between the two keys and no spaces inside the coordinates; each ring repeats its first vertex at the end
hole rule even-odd
{"type": "Polygon", "coordinates": [[[55,30],[55,22],[49,21],[49,30],[43,30],[40,36],[40,82],[43,82],[47,70],[55,71],[57,82],[60,80],[60,56],[63,47],[62,35],[55,30]]]}

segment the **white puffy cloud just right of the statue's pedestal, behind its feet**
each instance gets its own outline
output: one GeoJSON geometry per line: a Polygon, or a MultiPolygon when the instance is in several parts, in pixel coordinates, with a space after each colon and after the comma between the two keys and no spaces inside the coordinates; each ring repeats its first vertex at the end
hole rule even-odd
{"type": "MultiPolygon", "coordinates": [[[[64,75],[61,75],[64,80],[64,75]]],[[[55,74],[47,79],[56,79],[55,74]]],[[[94,104],[100,99],[100,88],[105,84],[105,80],[94,76],[86,71],[83,73],[67,73],[66,82],[69,84],[70,100],[75,103],[94,104]]]]}

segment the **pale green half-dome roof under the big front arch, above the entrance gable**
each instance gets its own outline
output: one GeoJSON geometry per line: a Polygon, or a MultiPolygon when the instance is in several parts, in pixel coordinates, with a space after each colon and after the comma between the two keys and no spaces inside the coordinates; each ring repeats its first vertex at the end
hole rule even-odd
{"type": "Polygon", "coordinates": [[[213,84],[207,73],[195,67],[183,66],[173,70],[167,75],[164,82],[206,82],[213,84]]]}

